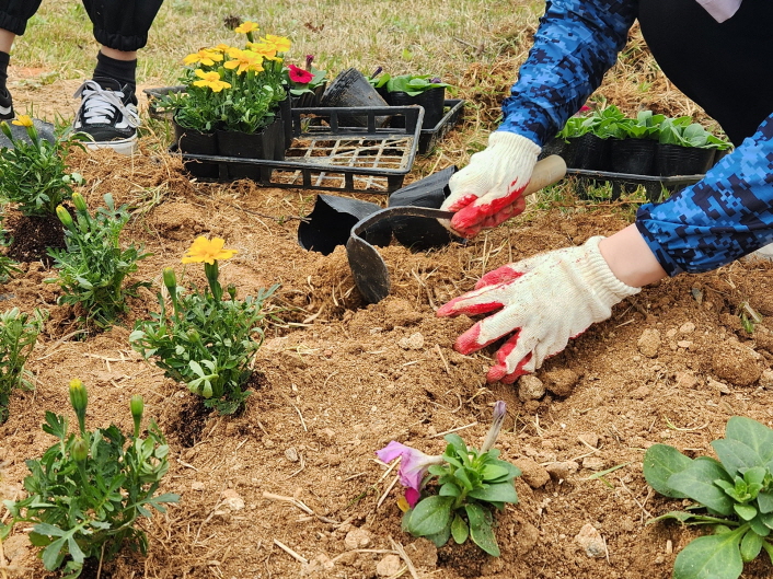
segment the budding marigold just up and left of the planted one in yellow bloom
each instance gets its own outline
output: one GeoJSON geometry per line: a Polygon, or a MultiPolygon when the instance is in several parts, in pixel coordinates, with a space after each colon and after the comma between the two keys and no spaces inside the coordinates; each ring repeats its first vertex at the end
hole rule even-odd
{"type": "Polygon", "coordinates": [[[104,198],[107,207],[101,207],[91,216],[83,197],[74,193],[74,220],[67,209],[57,207],[57,217],[65,225],[67,248],[49,251],[59,276],[46,282],[58,283],[64,291],[59,303],[80,308],[79,323],[84,328],[108,328],[128,311],[127,298],[136,297],[140,287],[150,286],[147,281],[124,283],[126,277],[137,270],[137,262],[151,254],[142,253],[134,243],[126,250],[120,248],[120,232],[129,220],[129,212],[125,205],[116,209],[109,194],[104,198]]]}

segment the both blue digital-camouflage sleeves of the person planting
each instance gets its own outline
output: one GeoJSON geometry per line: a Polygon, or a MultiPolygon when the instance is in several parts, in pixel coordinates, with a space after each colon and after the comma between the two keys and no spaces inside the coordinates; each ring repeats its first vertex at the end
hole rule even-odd
{"type": "MultiPolygon", "coordinates": [[[[549,1],[498,130],[544,144],[601,84],[637,11],[635,0],[549,1]]],[[[773,115],[700,183],[639,208],[636,227],[671,276],[773,242],[773,115]]]]}

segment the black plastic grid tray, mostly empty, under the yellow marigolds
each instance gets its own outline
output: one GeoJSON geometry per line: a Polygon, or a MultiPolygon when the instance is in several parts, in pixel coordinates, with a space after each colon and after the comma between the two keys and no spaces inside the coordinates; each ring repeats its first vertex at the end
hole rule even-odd
{"type": "Polygon", "coordinates": [[[293,140],[284,161],[180,153],[176,144],[170,152],[217,163],[219,176],[209,181],[233,181],[234,169],[258,165],[268,169],[256,180],[266,187],[389,194],[402,187],[413,166],[423,118],[416,106],[293,108],[293,140]],[[378,126],[394,115],[405,116],[405,127],[378,126]],[[349,126],[353,118],[362,126],[349,126]]]}

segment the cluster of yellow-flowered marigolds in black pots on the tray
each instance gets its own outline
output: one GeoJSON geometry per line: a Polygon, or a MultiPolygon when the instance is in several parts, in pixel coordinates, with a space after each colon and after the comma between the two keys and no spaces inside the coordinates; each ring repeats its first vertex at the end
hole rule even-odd
{"type": "MultiPolygon", "coordinates": [[[[255,38],[254,22],[234,32],[246,36],[242,46],[219,44],[201,48],[183,60],[180,79],[185,89],[163,97],[162,106],[174,111],[175,138],[182,152],[235,158],[285,158],[284,117],[289,117],[285,88],[284,56],[290,40],[267,34],[255,38]],[[194,140],[195,139],[195,140],[194,140]],[[205,141],[198,148],[198,140],[205,141]]],[[[197,176],[212,177],[217,165],[205,165],[197,176]],[[201,174],[203,173],[203,174],[201,174]]],[[[229,165],[230,178],[261,176],[252,164],[229,165]]]]}

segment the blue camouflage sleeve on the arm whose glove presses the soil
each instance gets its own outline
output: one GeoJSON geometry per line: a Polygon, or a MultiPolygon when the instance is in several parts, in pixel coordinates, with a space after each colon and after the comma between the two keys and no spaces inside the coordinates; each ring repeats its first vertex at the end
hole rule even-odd
{"type": "Polygon", "coordinates": [[[711,271],[773,242],[773,114],[705,177],[636,227],[669,276],[711,271]]]}

